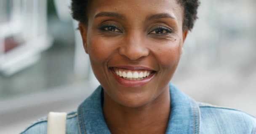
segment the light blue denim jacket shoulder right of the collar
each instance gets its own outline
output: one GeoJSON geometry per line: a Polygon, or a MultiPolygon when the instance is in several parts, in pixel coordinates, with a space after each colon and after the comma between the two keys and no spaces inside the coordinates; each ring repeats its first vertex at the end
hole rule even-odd
{"type": "MultiPolygon", "coordinates": [[[[202,129],[218,128],[233,134],[256,134],[256,118],[243,111],[198,103],[202,129]]],[[[216,131],[216,134],[218,132],[216,131]]]]}

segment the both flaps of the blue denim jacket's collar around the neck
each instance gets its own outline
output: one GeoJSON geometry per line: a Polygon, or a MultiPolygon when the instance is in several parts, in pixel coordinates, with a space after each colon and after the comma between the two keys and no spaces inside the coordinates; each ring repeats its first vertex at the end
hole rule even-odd
{"type": "MultiPolygon", "coordinates": [[[[171,114],[166,134],[199,134],[199,107],[170,83],[171,114]]],[[[80,134],[111,134],[102,111],[99,86],[77,109],[80,134]]]]}

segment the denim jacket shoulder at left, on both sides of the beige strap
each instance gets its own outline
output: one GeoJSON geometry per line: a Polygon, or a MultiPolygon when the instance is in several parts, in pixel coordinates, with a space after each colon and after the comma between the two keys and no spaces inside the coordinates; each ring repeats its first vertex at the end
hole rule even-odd
{"type": "MultiPolygon", "coordinates": [[[[66,133],[78,134],[77,112],[73,111],[67,114],[66,133]]],[[[47,134],[47,117],[43,117],[33,122],[20,134],[47,134]]]]}

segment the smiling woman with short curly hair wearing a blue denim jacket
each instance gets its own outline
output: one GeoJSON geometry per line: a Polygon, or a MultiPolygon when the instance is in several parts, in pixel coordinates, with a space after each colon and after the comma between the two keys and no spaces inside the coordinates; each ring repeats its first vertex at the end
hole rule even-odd
{"type": "MultiPolygon", "coordinates": [[[[67,134],[256,134],[256,119],[198,103],[169,84],[198,0],[72,0],[101,83],[67,116],[67,134]]],[[[22,134],[46,134],[47,119],[22,134]]]]}

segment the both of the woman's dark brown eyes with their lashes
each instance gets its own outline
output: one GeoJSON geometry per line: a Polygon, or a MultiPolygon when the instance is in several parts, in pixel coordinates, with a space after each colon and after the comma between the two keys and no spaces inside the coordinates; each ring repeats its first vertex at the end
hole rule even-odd
{"type": "MultiPolygon", "coordinates": [[[[116,32],[116,33],[123,33],[119,28],[117,28],[115,25],[104,25],[99,28],[101,31],[106,31],[106,32],[116,32]],[[112,29],[112,30],[109,30],[112,29]]],[[[157,26],[153,31],[150,31],[149,34],[168,34],[168,33],[173,33],[173,31],[170,28],[167,28],[165,26],[157,26]],[[157,32],[157,30],[160,30],[157,32]],[[155,31],[155,33],[153,33],[155,31]],[[163,32],[163,33],[159,33],[163,32]]]]}

